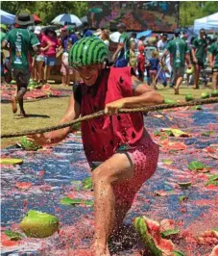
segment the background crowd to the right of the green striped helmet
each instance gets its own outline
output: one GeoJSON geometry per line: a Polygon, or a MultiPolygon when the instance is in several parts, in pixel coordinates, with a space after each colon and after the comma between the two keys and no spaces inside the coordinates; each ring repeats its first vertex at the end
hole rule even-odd
{"type": "Polygon", "coordinates": [[[131,65],[139,79],[146,81],[157,90],[157,80],[162,81],[166,87],[174,87],[175,94],[186,73],[187,85],[193,84],[193,89],[199,89],[201,70],[205,68],[206,60],[212,69],[212,88],[218,89],[217,38],[206,37],[206,30],[201,29],[198,38],[188,38],[181,29],[176,29],[174,37],[168,39],[167,34],[160,37],[154,35],[150,38],[136,38],[136,33],[130,38],[126,32],[125,24],[119,24],[121,33],[117,50],[112,61],[115,66],[131,65]],[[192,82],[193,81],[193,82],[192,82]]]}

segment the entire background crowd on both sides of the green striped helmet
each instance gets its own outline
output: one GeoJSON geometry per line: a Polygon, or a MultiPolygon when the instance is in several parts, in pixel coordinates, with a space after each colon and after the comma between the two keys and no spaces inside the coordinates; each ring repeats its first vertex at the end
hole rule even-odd
{"type": "Polygon", "coordinates": [[[164,87],[169,85],[174,88],[175,94],[179,94],[185,73],[187,85],[192,84],[193,89],[199,89],[201,69],[204,69],[206,59],[212,68],[212,87],[218,89],[217,39],[214,37],[208,40],[204,29],[201,29],[198,38],[188,38],[180,29],[176,29],[174,37],[170,39],[165,33],[137,38],[135,32],[130,36],[126,25],[120,23],[117,25],[120,36],[118,42],[114,43],[109,37],[109,29],[98,29],[92,33],[87,22],[82,30],[72,25],[64,25],[60,30],[51,26],[29,29],[33,23],[32,15],[20,13],[16,16],[12,30],[7,32],[6,26],[1,26],[2,48],[10,49],[10,58],[5,60],[1,52],[2,82],[7,76],[7,81],[13,78],[18,85],[17,94],[12,99],[14,113],[15,102],[18,101],[21,115],[25,116],[22,98],[30,78],[36,81],[39,88],[47,84],[51,70],[60,56],[62,86],[69,86],[76,72],[69,66],[69,52],[78,40],[91,36],[100,38],[106,44],[109,49],[109,65],[132,66],[139,80],[146,81],[155,90],[159,82],[164,87]],[[22,83],[18,81],[21,75],[22,83]],[[25,84],[25,89],[19,84],[25,84]]]}

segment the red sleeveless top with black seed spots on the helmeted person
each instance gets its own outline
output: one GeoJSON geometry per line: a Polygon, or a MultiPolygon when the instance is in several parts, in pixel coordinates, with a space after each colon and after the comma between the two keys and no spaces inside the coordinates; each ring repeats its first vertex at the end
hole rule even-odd
{"type": "MultiPolygon", "coordinates": [[[[131,67],[104,69],[95,86],[82,85],[81,89],[82,116],[104,110],[109,102],[133,96],[131,67]]],[[[119,146],[125,144],[133,148],[141,140],[144,132],[143,115],[103,115],[83,121],[81,128],[87,161],[103,162],[119,146]]]]}

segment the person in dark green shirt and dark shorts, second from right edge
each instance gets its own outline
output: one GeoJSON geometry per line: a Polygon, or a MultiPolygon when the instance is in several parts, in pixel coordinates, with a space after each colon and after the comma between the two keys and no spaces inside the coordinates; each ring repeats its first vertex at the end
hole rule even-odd
{"type": "Polygon", "coordinates": [[[195,78],[194,78],[194,86],[193,89],[199,89],[199,76],[201,69],[204,67],[205,59],[206,59],[206,30],[200,30],[200,37],[195,38],[192,44],[192,56],[193,63],[195,65],[195,78]]]}

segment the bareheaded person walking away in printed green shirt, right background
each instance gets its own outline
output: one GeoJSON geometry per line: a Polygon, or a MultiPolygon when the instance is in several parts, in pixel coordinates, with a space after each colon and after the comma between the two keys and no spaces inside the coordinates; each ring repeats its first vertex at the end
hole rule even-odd
{"type": "Polygon", "coordinates": [[[180,38],[180,34],[180,29],[176,29],[174,32],[175,38],[167,43],[166,49],[161,57],[161,63],[163,63],[167,53],[170,53],[173,67],[173,81],[176,85],[174,88],[175,94],[179,94],[179,88],[182,84],[182,78],[184,75],[185,61],[189,67],[191,67],[187,43],[180,38]]]}

